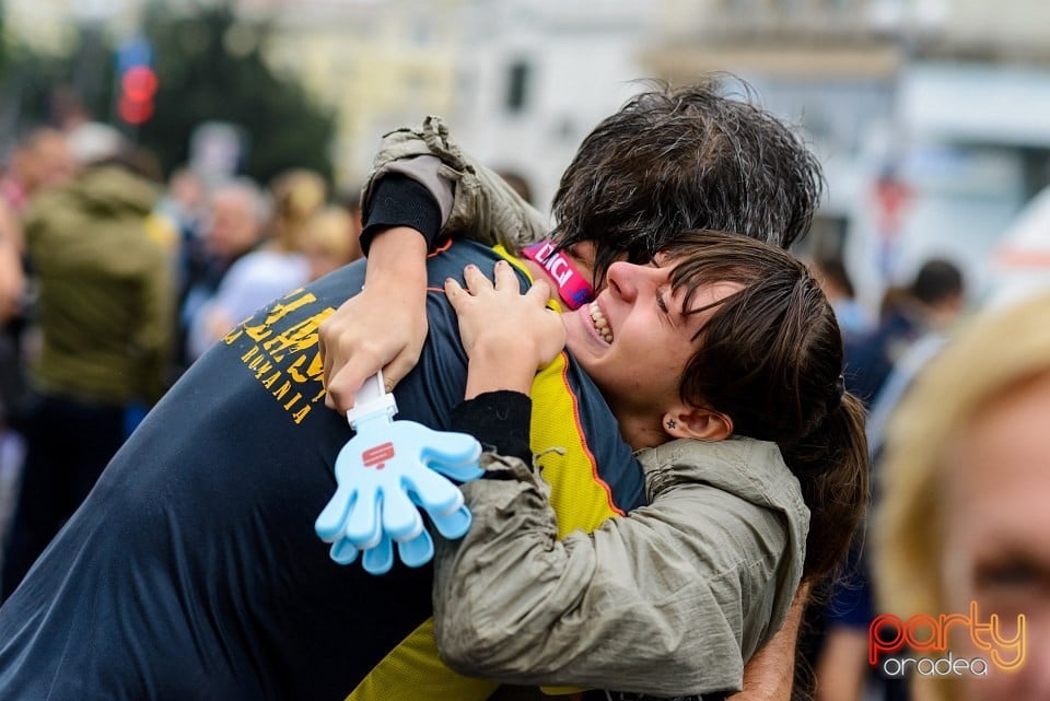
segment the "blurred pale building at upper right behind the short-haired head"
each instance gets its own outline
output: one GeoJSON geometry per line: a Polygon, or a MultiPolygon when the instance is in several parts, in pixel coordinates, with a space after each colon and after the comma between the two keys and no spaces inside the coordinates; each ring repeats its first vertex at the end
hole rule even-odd
{"type": "Polygon", "coordinates": [[[1038,0],[667,0],[643,63],[747,78],[827,167],[810,247],[841,250],[862,296],[956,260],[981,290],[1024,203],[1050,182],[1050,5],[1038,0]]]}

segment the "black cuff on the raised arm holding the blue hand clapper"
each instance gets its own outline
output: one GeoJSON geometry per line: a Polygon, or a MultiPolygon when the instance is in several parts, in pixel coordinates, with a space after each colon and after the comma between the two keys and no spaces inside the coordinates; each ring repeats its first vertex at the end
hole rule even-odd
{"type": "Polygon", "coordinates": [[[441,207],[425,187],[400,173],[380,178],[364,205],[361,250],[368,255],[372,238],[390,226],[410,226],[427,239],[433,250],[441,231],[441,207]]]}

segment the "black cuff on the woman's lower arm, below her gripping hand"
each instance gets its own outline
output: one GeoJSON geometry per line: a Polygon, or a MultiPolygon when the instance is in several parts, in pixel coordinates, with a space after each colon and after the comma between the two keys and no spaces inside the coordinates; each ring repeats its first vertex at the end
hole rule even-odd
{"type": "Polygon", "coordinates": [[[505,389],[487,392],[453,409],[450,428],[469,433],[500,455],[517,457],[532,465],[533,451],[528,445],[532,414],[533,400],[528,395],[505,389]]]}

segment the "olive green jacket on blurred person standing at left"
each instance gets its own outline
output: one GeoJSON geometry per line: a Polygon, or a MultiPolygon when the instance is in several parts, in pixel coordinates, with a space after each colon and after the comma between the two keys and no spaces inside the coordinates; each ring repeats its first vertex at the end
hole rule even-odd
{"type": "Polygon", "coordinates": [[[145,231],[159,189],[116,165],[42,192],[25,215],[37,280],[39,392],[82,401],[153,404],[173,335],[170,254],[145,231]]]}

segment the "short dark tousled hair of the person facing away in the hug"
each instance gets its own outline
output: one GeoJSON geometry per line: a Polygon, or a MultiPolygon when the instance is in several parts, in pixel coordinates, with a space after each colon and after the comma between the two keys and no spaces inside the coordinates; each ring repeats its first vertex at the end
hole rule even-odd
{"type": "Polygon", "coordinates": [[[584,139],[555,194],[553,238],[593,242],[599,276],[621,256],[644,262],[681,231],[732,231],[788,248],[809,229],[820,163],[727,74],[634,96],[584,139]]]}

